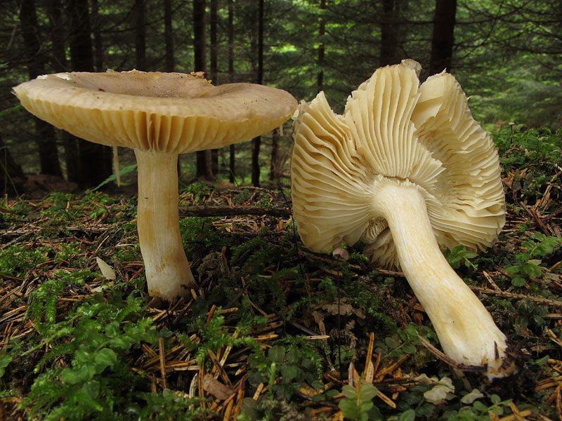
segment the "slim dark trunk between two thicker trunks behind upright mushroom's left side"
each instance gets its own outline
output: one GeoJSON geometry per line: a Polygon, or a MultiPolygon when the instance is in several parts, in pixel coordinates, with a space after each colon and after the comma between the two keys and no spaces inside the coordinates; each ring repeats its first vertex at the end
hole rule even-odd
{"type": "MultiPolygon", "coordinates": [[[[48,0],[47,13],[49,25],[51,27],[51,44],[53,48],[51,64],[53,65],[55,72],[67,72],[67,36],[66,28],[63,22],[63,6],[60,3],[60,0],[48,0]]],[[[67,131],[61,132],[63,138],[63,148],[65,149],[66,178],[69,181],[79,182],[81,171],[77,138],[67,131]]]]}

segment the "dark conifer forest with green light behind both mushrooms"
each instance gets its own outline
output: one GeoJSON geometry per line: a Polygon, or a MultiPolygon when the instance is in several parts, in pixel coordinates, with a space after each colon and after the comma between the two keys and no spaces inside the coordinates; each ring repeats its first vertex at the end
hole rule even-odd
{"type": "MultiPolygon", "coordinates": [[[[11,88],[39,74],[204,71],[215,84],[264,83],[297,100],[325,91],[341,112],[374,69],[403,58],[421,63],[422,80],[455,74],[488,130],[562,125],[562,0],[4,0],[0,190],[21,193],[38,173],[81,187],[111,174],[110,149],[18,109],[11,88]]],[[[288,122],[182,156],[181,180],[286,183],[291,148],[288,122]]]]}

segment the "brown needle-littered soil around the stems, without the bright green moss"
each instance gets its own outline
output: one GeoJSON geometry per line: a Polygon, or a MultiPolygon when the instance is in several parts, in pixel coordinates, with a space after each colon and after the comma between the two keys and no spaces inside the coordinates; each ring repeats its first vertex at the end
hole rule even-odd
{"type": "MultiPolygon", "coordinates": [[[[89,192],[8,199],[0,209],[0,420],[30,417],[36,403],[26,396],[44,370],[76,366],[72,355],[48,358],[72,335],[49,341],[41,326],[57,326],[93,297],[126,302],[133,291],[144,303],[143,316],[164,334],[133,344],[119,361],[147,392],[202,398],[193,404],[204,409],[201,419],[235,420],[243,413],[239,419],[344,420],[339,403],[350,399],[344,386],[360,391],[372,384],[383,419],[422,406],[428,419],[462,406],[476,413],[471,405],[482,396],[482,416],[491,420],[562,420],[560,247],[541,261],[531,259],[539,276],[525,277],[521,286],[513,286],[506,269],[516,263],[509,256],[528,251],[525,233],[560,235],[562,208],[554,187],[522,204],[514,173],[504,182],[519,207],[508,206],[495,247],[457,268],[511,338],[519,361],[515,379],[492,385],[478,370],[461,376],[436,351],[431,323],[400,272],[370,267],[360,246],[348,248],[347,260],[303,247],[286,190],[183,189],[181,228],[200,286],[174,302],[150,300],[143,289],[134,198],[89,192]],[[104,278],[96,258],[115,279],[104,278]],[[34,291],[53,279],[63,279],[65,288],[55,293],[55,319],[48,322],[48,309],[43,317],[29,309],[34,291]],[[217,332],[222,345],[212,336],[217,332]],[[14,343],[27,344],[22,355],[9,354],[14,343]]],[[[41,419],[40,408],[33,416],[41,419]]]]}

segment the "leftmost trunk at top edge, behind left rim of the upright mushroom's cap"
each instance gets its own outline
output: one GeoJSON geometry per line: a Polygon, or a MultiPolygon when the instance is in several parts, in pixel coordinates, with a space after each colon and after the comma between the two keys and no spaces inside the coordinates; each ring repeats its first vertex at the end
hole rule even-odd
{"type": "MultiPolygon", "coordinates": [[[[20,7],[20,22],[22,36],[25,44],[25,58],[27,59],[27,72],[30,79],[40,74],[45,74],[45,55],[41,51],[41,42],[37,36],[39,24],[34,0],[22,0],[20,7]]],[[[39,150],[39,163],[42,174],[63,176],[58,161],[58,150],[55,137],[55,128],[51,124],[34,117],[37,132],[37,149],[39,150]]]]}

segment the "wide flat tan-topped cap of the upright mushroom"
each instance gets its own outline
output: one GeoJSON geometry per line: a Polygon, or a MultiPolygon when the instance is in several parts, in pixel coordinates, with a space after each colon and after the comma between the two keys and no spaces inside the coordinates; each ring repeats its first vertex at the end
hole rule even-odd
{"type": "Polygon", "coordinates": [[[136,70],[49,74],[13,90],[32,114],[79,138],[178,154],[254,138],[296,108],[291,94],[268,86],[136,70]]]}

